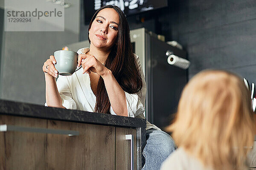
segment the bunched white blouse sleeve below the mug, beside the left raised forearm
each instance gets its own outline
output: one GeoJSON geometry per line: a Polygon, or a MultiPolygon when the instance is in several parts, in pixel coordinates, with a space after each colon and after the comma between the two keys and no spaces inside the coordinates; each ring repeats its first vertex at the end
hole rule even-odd
{"type": "MultiPolygon", "coordinates": [[[[67,78],[59,75],[56,84],[58,92],[61,96],[62,106],[67,109],[76,110],[76,102],[72,98],[67,78]]],[[[44,105],[47,106],[47,103],[45,103],[44,105]]]]}

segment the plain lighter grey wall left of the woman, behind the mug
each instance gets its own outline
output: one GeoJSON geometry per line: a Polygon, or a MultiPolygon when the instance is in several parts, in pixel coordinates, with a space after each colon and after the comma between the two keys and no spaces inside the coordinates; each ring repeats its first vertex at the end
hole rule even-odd
{"type": "Polygon", "coordinates": [[[64,31],[4,32],[1,38],[1,99],[44,105],[44,62],[54,51],[79,41],[80,0],[69,2],[72,6],[64,11],[64,31]]]}

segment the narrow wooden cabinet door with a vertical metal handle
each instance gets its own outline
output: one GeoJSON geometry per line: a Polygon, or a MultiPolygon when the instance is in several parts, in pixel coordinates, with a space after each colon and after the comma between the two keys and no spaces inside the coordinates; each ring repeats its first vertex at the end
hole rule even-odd
{"type": "Polygon", "coordinates": [[[133,134],[134,170],[137,169],[136,130],[116,127],[116,170],[131,170],[131,142],[125,140],[126,134],[133,134]]]}

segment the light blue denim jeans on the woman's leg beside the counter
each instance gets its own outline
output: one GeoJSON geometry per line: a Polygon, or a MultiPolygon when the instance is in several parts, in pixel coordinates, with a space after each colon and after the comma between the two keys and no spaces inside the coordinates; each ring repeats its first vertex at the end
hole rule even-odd
{"type": "Polygon", "coordinates": [[[142,153],[145,165],[142,170],[159,170],[174,150],[174,140],[167,133],[155,129],[146,130],[146,145],[142,153]]]}

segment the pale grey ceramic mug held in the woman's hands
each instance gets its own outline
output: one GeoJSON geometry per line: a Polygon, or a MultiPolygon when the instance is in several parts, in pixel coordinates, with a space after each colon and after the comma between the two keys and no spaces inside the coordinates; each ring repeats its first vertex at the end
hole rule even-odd
{"type": "Polygon", "coordinates": [[[78,71],[82,66],[76,68],[78,63],[78,53],[68,50],[58,50],[54,52],[56,64],[54,65],[58,73],[62,76],[70,76],[78,71]]]}

